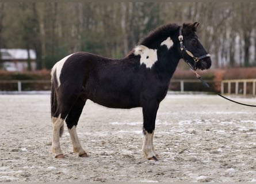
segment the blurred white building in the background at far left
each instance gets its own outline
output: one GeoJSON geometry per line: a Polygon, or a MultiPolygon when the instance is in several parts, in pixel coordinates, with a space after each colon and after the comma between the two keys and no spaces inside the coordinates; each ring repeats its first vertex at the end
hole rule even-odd
{"type": "Polygon", "coordinates": [[[0,69],[7,71],[27,71],[29,67],[29,57],[31,70],[36,70],[36,52],[29,49],[0,49],[0,69]]]}

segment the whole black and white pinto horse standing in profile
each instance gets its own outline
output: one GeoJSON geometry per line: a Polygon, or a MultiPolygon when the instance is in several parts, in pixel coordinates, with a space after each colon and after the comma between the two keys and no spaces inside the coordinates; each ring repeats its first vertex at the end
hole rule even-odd
{"type": "Polygon", "coordinates": [[[77,52],[52,68],[51,115],[55,158],[64,158],[60,136],[66,121],[73,150],[88,156],[78,140],[77,124],[87,99],[109,108],[142,107],[143,153],[157,160],[153,138],[158,107],[165,98],[171,76],[180,59],[194,70],[211,67],[194,24],[167,24],[148,34],[123,59],[77,52]]]}

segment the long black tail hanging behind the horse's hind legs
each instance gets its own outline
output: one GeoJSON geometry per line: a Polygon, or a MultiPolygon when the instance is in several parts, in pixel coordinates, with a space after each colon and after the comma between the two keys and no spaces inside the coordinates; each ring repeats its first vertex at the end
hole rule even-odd
{"type": "MultiPolygon", "coordinates": [[[[56,98],[56,91],[55,91],[55,86],[56,86],[56,75],[55,72],[52,72],[52,79],[51,79],[51,116],[54,117],[57,108],[58,108],[58,102],[57,102],[57,98],[56,98]]],[[[60,127],[60,137],[63,135],[64,132],[64,125],[62,125],[62,127],[60,127]]]]}

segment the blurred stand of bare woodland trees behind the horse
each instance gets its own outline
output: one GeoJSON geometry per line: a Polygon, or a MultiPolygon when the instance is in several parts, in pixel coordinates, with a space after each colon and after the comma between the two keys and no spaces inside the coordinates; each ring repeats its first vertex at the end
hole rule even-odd
{"type": "Polygon", "coordinates": [[[200,40],[216,60],[213,67],[250,66],[256,59],[254,7],[253,2],[0,3],[0,44],[33,48],[37,68],[51,68],[77,51],[123,57],[159,25],[198,21],[200,40]]]}

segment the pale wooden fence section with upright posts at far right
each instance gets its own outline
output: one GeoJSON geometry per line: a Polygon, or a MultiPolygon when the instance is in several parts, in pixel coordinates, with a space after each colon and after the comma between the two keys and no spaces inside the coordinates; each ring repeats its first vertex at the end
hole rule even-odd
{"type": "Polygon", "coordinates": [[[243,94],[255,96],[256,79],[234,79],[221,81],[221,94],[243,94]]]}

